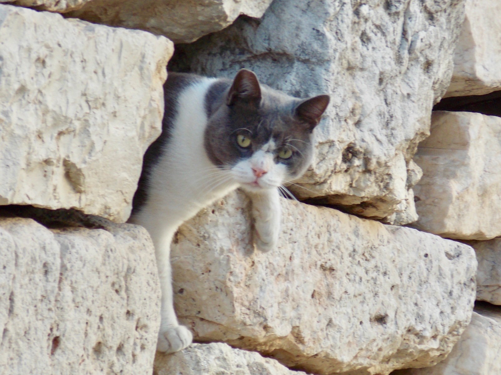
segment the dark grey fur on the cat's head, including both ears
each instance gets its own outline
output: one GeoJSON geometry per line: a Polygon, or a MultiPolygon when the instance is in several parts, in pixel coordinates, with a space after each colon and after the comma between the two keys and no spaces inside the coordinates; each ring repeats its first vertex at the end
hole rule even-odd
{"type": "Polygon", "coordinates": [[[328,104],[328,96],[299,99],[259,84],[257,78],[246,80],[252,78],[249,70],[243,77],[239,74],[234,81],[217,80],[207,91],[204,146],[208,157],[214,165],[227,167],[263,149],[274,152],[275,162],[287,167],[288,179],[301,176],[312,161],[312,131],[328,104]],[[253,88],[253,84],[259,87],[253,88]],[[250,146],[239,146],[238,135],[250,138],[250,146]],[[279,153],[285,149],[292,155],[281,158],[279,153]]]}

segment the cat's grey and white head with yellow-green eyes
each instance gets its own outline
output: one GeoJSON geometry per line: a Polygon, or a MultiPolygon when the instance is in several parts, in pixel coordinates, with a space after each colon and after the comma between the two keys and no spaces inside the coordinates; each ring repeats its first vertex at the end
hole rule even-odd
{"type": "Polygon", "coordinates": [[[205,150],[248,190],[275,188],[301,176],[313,158],[312,133],[328,95],[298,99],[241,69],[207,93],[205,150]]]}

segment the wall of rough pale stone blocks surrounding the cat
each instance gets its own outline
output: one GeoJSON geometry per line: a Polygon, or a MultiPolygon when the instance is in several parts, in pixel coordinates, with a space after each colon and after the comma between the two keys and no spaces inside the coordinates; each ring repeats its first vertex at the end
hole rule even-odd
{"type": "Polygon", "coordinates": [[[497,1],[0,3],[0,372],[501,371],[497,1]],[[331,96],[276,249],[238,191],[180,227],[168,355],[123,223],[167,63],[331,96]]]}

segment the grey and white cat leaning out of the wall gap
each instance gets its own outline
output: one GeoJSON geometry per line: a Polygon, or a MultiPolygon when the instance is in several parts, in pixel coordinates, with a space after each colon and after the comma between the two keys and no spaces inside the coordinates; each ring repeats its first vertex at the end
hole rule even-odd
{"type": "Polygon", "coordinates": [[[162,134],[145,153],[129,222],[153,239],[162,292],[157,350],[174,352],[192,340],[172,301],[169,255],[177,228],[240,187],[252,200],[256,247],[273,249],[278,187],[310,165],[312,132],[329,96],[298,99],[260,84],[246,69],[233,80],[169,72],[164,95],[162,134]]]}

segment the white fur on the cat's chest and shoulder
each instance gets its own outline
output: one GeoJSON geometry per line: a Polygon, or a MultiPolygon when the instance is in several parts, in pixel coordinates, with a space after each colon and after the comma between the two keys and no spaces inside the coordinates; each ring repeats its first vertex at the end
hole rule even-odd
{"type": "Polygon", "coordinates": [[[148,201],[132,219],[148,229],[155,245],[170,243],[182,222],[238,187],[204,149],[204,98],[214,79],[204,78],[179,95],[165,152],[150,172],[148,201]]]}

